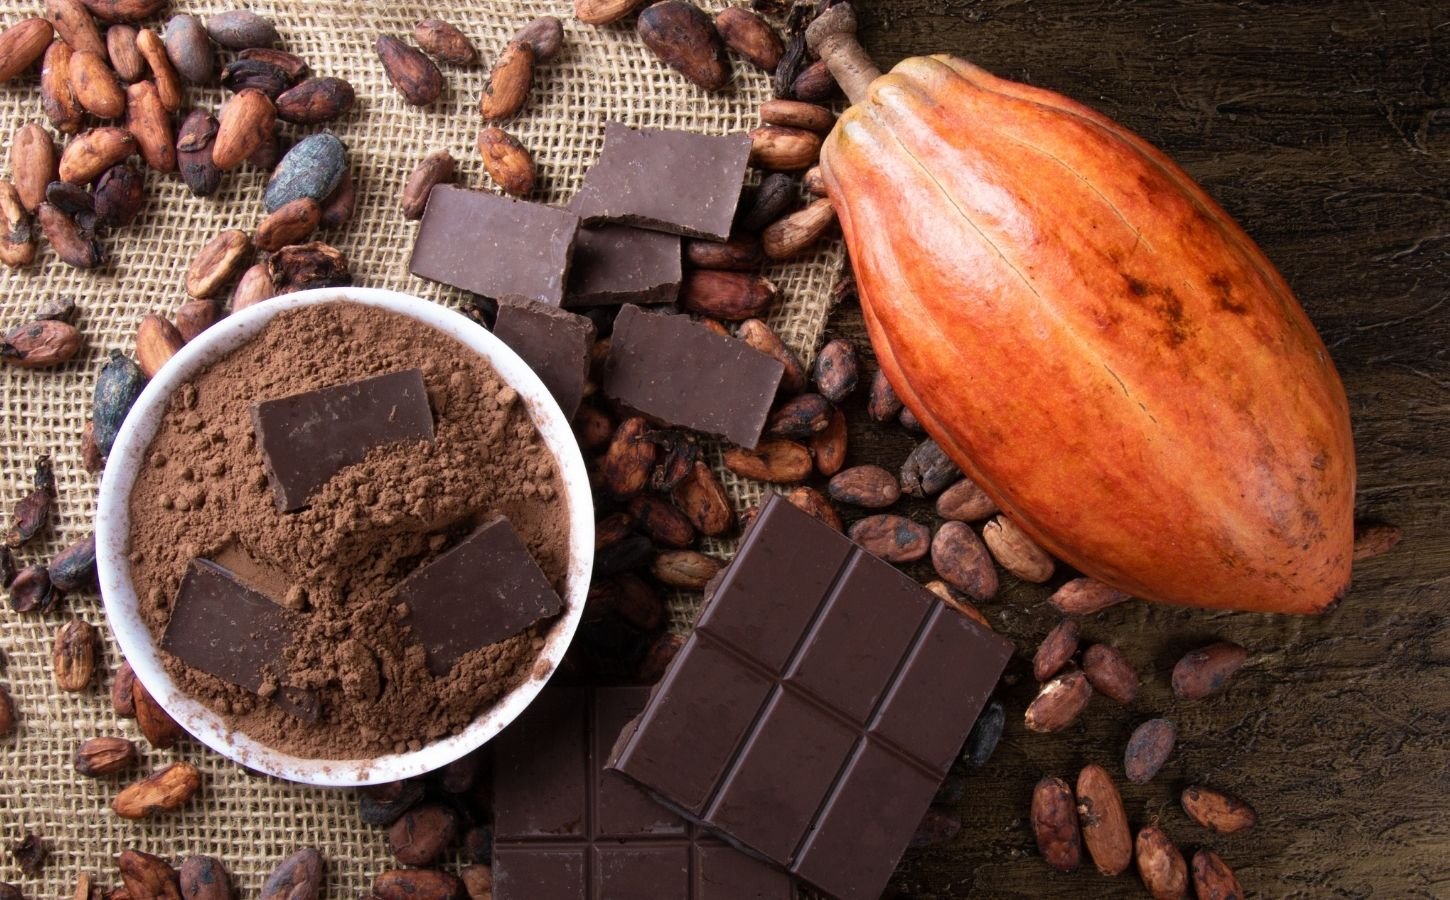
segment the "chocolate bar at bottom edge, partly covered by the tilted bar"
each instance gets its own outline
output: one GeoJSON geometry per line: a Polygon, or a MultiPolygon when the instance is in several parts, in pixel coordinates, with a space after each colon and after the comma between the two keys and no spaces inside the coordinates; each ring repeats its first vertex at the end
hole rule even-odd
{"type": "Polygon", "coordinates": [[[793,880],[605,771],[650,688],[545,690],[493,741],[494,900],[792,900],[793,880]]]}

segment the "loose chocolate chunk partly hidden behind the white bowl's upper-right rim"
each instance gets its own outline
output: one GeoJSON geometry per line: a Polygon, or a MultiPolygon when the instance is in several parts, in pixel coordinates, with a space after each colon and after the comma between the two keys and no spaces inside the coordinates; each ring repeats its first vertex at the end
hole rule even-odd
{"type": "Polygon", "coordinates": [[[594,323],[538,300],[505,297],[493,333],[529,364],[564,416],[573,419],[589,381],[594,323]]]}

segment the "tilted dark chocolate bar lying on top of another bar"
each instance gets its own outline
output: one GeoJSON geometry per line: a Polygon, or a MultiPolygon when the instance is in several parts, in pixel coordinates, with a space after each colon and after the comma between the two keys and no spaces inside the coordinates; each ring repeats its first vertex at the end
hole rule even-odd
{"type": "Polygon", "coordinates": [[[840,900],[876,900],[1011,654],[771,497],[610,768],[840,900]]]}

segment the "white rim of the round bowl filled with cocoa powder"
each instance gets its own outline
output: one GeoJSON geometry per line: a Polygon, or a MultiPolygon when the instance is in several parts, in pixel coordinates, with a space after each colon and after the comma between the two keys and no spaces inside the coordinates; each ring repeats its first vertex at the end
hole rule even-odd
{"type": "MultiPolygon", "coordinates": [[[[122,652],[136,677],[177,723],[202,743],[249,768],[304,784],[352,787],[384,784],[432,771],[477,749],[518,717],[538,696],[548,677],[558,668],[568,648],[589,593],[589,574],[594,558],[594,510],[584,458],[558,403],[519,357],[476,322],[450,309],[396,291],[370,288],[323,288],[286,294],[222,319],[187,343],[162,367],[141,399],[130,409],[116,445],[106,462],[100,483],[100,510],[96,516],[96,562],[106,617],[122,652]],[[568,501],[568,575],[564,612],[550,629],[542,659],[548,671],[531,675],[499,699],[465,729],[434,741],[419,751],[358,759],[310,759],[267,746],[228,725],[204,704],[181,693],[161,664],[157,642],[141,619],[136,590],[130,583],[128,536],[130,532],[130,488],[146,448],[155,438],[171,393],[254,338],[277,313],[319,303],[349,301],[376,306],[452,336],[487,359],[499,375],[525,401],[545,445],[558,459],[568,501]]],[[[535,664],[535,672],[542,667],[535,664]]]]}

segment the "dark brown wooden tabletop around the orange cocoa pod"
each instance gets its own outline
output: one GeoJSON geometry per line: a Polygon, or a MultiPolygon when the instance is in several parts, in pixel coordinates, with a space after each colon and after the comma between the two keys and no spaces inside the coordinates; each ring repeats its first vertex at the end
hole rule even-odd
{"type": "MultiPolygon", "coordinates": [[[[1043,775],[1072,781],[1093,761],[1121,775],[1132,728],[1161,714],[1179,751],[1151,784],[1124,790],[1135,828],[1157,819],[1188,852],[1217,849],[1256,897],[1450,897],[1450,7],[866,0],[860,12],[882,64],[966,57],[1086,101],[1193,174],[1322,332],[1353,407],[1359,514],[1405,535],[1322,617],[1132,603],[1089,620],[1085,636],[1122,648],[1143,688],[1132,709],[1095,699],[1060,735],[1021,725],[1030,658],[1056,616],[1045,590],[1008,578],[985,604],[1019,649],[1006,736],[970,781],[960,835],[914,851],[896,893],[1147,896],[1131,874],[1053,874],[1027,812],[1043,775]],[[1173,662],[1218,638],[1243,642],[1248,665],[1221,696],[1176,701],[1173,662]],[[1241,794],[1260,825],[1227,838],[1193,826],[1177,807],[1193,783],[1241,794]]],[[[832,330],[864,343],[854,306],[832,330]]],[[[912,442],[856,425],[851,458],[896,464],[912,442]]],[[[925,506],[912,514],[929,520],[925,506]]]]}

